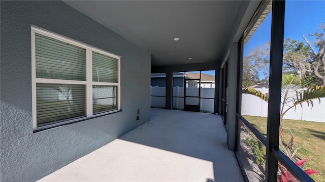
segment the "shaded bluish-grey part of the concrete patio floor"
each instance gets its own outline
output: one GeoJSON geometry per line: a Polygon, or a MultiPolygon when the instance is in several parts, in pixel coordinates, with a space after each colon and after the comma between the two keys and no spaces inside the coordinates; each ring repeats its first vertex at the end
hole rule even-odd
{"type": "Polygon", "coordinates": [[[152,108],[149,122],[119,139],[211,161],[214,179],[207,181],[244,181],[234,152],[226,146],[221,116],[152,108]]]}

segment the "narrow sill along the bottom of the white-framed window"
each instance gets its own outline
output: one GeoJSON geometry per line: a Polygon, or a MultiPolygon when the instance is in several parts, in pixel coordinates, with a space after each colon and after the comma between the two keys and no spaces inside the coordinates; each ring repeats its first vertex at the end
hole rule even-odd
{"type": "Polygon", "coordinates": [[[98,118],[98,117],[102,117],[102,116],[106,116],[106,115],[110,115],[110,114],[114,114],[114,113],[118,113],[118,112],[122,112],[122,110],[113,110],[113,111],[108,111],[108,112],[104,112],[104,113],[99,113],[99,114],[93,115],[91,117],[82,117],[82,118],[72,119],[69,121],[63,121],[63,122],[53,123],[53,124],[49,124],[49,125],[45,125],[45,126],[40,126],[40,127],[37,127],[36,129],[34,129],[32,132],[36,133],[36,132],[44,131],[47,129],[52,129],[52,128],[56,128],[59,126],[64,126],[64,125],[77,123],[77,122],[81,122],[81,121],[85,121],[85,120],[89,120],[89,119],[94,119],[94,118],[98,118]]]}

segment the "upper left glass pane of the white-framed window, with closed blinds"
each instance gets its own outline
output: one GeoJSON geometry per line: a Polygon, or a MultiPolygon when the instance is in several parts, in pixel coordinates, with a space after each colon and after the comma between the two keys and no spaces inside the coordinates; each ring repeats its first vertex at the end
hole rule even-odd
{"type": "Polygon", "coordinates": [[[86,50],[35,33],[36,77],[86,80],[86,50]]]}

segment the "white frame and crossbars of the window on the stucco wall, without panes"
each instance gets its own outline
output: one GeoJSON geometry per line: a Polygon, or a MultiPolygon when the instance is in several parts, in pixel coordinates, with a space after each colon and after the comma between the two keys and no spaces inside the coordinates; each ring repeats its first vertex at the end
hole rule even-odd
{"type": "Polygon", "coordinates": [[[72,40],[67,37],[63,37],[61,35],[31,26],[31,91],[32,91],[32,128],[33,130],[39,130],[39,129],[45,129],[50,128],[62,124],[67,124],[71,122],[76,122],[79,120],[84,120],[86,118],[91,118],[94,116],[101,116],[109,113],[118,112],[121,110],[121,95],[120,95],[120,83],[121,83],[121,77],[120,77],[120,64],[121,57],[114,55],[112,53],[108,53],[106,51],[91,47],[90,45],[72,40]],[[36,53],[35,53],[35,33],[39,33],[51,38],[54,38],[56,40],[60,40],[63,42],[67,42],[73,45],[76,45],[80,48],[84,48],[86,50],[86,81],[78,81],[78,80],[63,80],[63,79],[47,79],[47,78],[36,78],[36,53]],[[113,82],[97,82],[92,81],[92,52],[100,53],[109,57],[116,58],[118,60],[118,83],[113,82]],[[82,84],[85,85],[86,90],[86,98],[85,98],[85,108],[86,108],[86,117],[81,117],[77,119],[71,119],[67,121],[57,122],[53,124],[48,124],[44,126],[37,127],[37,102],[36,102],[36,83],[57,83],[57,84],[82,84]],[[108,86],[117,86],[117,109],[93,114],[92,113],[92,85],[108,85],[108,86]]]}

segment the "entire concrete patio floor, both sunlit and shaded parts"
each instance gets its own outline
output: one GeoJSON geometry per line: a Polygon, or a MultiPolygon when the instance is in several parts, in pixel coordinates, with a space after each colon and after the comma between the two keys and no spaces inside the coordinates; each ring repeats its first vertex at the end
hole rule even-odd
{"type": "Polygon", "coordinates": [[[39,181],[244,181],[220,116],[151,109],[151,121],[39,181]]]}

